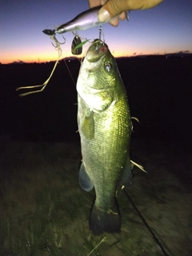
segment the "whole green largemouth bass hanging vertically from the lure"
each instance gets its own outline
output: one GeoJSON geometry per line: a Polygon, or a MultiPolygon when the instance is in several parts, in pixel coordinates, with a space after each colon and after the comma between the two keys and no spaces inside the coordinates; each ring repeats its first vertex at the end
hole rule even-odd
{"type": "Polygon", "coordinates": [[[119,233],[118,186],[132,183],[130,107],[109,47],[91,43],[78,74],[78,132],[82,162],[79,184],[95,190],[89,228],[95,234],[119,233]]]}

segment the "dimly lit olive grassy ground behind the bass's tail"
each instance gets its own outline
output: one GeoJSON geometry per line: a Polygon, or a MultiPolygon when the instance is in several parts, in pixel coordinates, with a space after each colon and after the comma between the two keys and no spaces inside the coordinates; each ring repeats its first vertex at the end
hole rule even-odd
{"type": "MultiPolygon", "coordinates": [[[[9,137],[0,145],[1,255],[163,255],[123,191],[118,193],[122,233],[90,233],[94,191],[78,186],[79,145],[9,137]]],[[[190,256],[191,192],[169,172],[165,153],[142,150],[137,143],[134,150],[148,174],[134,171],[130,197],[167,254],[190,256]]]]}

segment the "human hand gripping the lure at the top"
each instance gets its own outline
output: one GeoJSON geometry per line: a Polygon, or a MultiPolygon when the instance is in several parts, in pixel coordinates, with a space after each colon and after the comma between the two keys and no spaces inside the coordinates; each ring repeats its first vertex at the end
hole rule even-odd
{"type": "Polygon", "coordinates": [[[118,16],[110,21],[112,26],[118,26],[118,20],[127,18],[126,10],[144,10],[157,6],[163,0],[88,0],[90,8],[102,6],[98,11],[100,22],[106,22],[110,18],[118,16]]]}

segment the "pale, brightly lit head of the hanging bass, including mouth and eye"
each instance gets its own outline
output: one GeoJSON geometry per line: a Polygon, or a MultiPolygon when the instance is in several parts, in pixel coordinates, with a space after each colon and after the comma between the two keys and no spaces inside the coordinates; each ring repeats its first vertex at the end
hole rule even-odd
{"type": "Polygon", "coordinates": [[[91,43],[78,75],[78,95],[90,110],[106,110],[118,98],[116,86],[120,78],[118,67],[106,43],[95,39],[91,43]]]}

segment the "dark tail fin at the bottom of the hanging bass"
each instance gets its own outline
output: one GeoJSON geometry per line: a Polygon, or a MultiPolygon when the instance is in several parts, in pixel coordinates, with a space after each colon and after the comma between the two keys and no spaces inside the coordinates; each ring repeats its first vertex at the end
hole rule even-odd
{"type": "Polygon", "coordinates": [[[116,201],[114,201],[112,209],[105,211],[94,204],[90,213],[90,230],[96,235],[102,234],[103,232],[120,233],[121,218],[116,201]]]}

